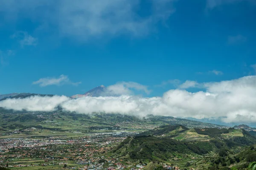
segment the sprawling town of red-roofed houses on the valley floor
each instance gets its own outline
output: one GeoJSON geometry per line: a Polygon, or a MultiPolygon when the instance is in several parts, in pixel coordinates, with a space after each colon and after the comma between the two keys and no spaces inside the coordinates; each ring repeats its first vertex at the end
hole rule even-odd
{"type": "Polygon", "coordinates": [[[95,133],[90,136],[69,138],[51,136],[41,139],[0,139],[0,165],[9,167],[47,167],[66,165],[65,169],[102,170],[109,167],[122,170],[127,167],[123,160],[99,157],[133,132],[95,133]],[[20,161],[26,160],[26,161],[20,161]],[[70,167],[69,164],[77,164],[70,167]]]}

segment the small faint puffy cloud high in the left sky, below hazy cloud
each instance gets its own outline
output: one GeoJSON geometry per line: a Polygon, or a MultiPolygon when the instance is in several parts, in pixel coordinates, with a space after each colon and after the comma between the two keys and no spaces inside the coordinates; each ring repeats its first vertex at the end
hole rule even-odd
{"type": "Polygon", "coordinates": [[[12,38],[17,38],[20,42],[21,47],[26,45],[37,45],[38,39],[29,35],[26,31],[17,31],[11,36],[12,38]]]}

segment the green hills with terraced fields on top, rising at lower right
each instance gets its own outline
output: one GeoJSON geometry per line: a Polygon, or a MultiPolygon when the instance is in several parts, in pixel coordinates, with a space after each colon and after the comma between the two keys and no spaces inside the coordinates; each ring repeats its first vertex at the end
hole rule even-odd
{"type": "MultiPolygon", "coordinates": [[[[127,138],[105,155],[127,161],[164,162],[184,168],[211,167],[218,170],[227,166],[225,161],[233,167],[234,163],[245,164],[246,158],[242,155],[247,154],[242,153],[251,144],[256,144],[256,139],[245,130],[188,129],[181,125],[165,125],[127,138]]],[[[254,147],[251,152],[255,153],[254,147]]],[[[251,161],[254,159],[248,162],[251,161]]]]}

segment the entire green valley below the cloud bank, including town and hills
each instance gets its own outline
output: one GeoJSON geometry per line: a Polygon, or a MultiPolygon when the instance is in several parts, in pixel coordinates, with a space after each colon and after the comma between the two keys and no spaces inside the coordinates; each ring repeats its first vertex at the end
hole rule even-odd
{"type": "Polygon", "coordinates": [[[0,116],[0,165],[10,169],[236,170],[249,166],[241,153],[256,143],[248,129],[166,116],[8,110],[0,116]],[[239,162],[223,163],[236,156],[239,162]]]}

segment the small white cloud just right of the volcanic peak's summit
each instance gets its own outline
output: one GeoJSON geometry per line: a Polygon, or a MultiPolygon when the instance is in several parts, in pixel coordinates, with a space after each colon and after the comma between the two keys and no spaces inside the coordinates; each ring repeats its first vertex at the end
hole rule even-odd
{"type": "Polygon", "coordinates": [[[118,82],[115,85],[108,86],[106,93],[112,95],[133,95],[133,91],[131,89],[150,94],[150,90],[148,90],[147,86],[141,85],[137,82],[118,82]]]}

